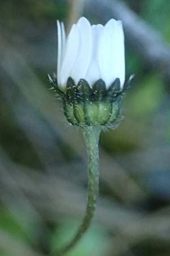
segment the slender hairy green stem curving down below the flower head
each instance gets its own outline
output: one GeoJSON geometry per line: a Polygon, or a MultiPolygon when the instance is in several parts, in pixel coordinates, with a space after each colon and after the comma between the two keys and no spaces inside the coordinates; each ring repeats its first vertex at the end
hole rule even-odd
{"type": "Polygon", "coordinates": [[[72,249],[86,232],[90,226],[92,217],[94,216],[96,201],[99,194],[99,136],[101,127],[83,126],[81,128],[88,154],[88,195],[86,214],[84,215],[82,224],[73,239],[59,251],[57,256],[62,256],[72,249]]]}

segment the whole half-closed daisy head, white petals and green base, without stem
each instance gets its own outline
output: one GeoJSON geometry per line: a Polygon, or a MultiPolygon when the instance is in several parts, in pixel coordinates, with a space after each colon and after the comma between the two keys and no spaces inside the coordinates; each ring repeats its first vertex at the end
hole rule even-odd
{"type": "Polygon", "coordinates": [[[82,17],[67,39],[63,23],[57,21],[57,28],[57,79],[49,80],[62,97],[67,120],[79,126],[112,125],[127,88],[122,22],[91,26],[82,17]]]}

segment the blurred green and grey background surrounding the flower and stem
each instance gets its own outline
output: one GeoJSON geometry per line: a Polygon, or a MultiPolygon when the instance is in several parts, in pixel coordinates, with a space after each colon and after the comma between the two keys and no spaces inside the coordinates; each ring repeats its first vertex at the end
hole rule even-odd
{"type": "Polygon", "coordinates": [[[86,206],[82,134],[49,91],[56,19],[121,19],[135,80],[100,137],[100,197],[69,256],[170,255],[170,1],[0,1],[0,256],[55,255],[86,206]]]}

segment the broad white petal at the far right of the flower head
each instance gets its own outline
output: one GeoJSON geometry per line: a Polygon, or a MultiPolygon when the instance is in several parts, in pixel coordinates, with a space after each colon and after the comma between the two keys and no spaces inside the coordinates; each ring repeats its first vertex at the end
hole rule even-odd
{"type": "Polygon", "coordinates": [[[124,37],[120,22],[111,19],[105,24],[99,43],[101,78],[107,87],[118,77],[124,83],[124,37]]]}

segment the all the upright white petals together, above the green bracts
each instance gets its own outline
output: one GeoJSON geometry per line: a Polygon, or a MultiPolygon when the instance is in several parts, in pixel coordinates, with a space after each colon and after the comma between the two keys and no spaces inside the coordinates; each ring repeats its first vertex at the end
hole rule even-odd
{"type": "Polygon", "coordinates": [[[65,38],[63,23],[57,20],[57,81],[65,88],[71,77],[75,84],[86,79],[90,86],[103,79],[107,88],[116,78],[125,82],[124,31],[121,20],[110,19],[105,26],[92,25],[84,17],[73,24],[65,38]]]}

